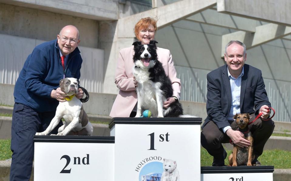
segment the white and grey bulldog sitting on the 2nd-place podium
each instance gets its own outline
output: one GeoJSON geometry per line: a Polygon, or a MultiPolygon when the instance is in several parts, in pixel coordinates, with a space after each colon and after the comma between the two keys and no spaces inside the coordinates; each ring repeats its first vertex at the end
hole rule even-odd
{"type": "Polygon", "coordinates": [[[57,135],[92,135],[93,126],[83,109],[82,102],[75,96],[78,93],[78,80],[65,78],[60,80],[59,86],[69,96],[69,99],[66,102],[59,102],[56,115],[48,128],[43,132],[36,133],[36,135],[48,135],[56,128],[61,118],[65,119],[65,123],[58,129],[57,135]]]}

